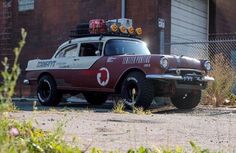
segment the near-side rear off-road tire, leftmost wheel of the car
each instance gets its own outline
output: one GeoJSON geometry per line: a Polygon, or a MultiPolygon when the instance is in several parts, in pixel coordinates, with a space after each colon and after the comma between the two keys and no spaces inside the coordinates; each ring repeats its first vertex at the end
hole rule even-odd
{"type": "Polygon", "coordinates": [[[43,106],[57,106],[61,101],[62,94],[57,90],[54,79],[45,75],[38,81],[37,97],[43,106]]]}

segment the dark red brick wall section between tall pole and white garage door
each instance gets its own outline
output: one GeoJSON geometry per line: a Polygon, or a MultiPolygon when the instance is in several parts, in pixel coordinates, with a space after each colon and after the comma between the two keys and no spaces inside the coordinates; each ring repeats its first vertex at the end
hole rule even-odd
{"type": "Polygon", "coordinates": [[[127,0],[126,17],[143,28],[143,40],[152,53],[160,53],[158,18],[166,20],[165,42],[170,42],[170,5],[171,0],[127,0]]]}

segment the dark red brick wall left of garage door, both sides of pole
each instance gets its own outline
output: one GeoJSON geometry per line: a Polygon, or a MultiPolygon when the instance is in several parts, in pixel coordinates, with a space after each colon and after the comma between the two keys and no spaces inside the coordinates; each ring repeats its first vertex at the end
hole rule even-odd
{"type": "MultiPolygon", "coordinates": [[[[171,0],[126,0],[126,18],[134,20],[135,26],[141,26],[144,40],[152,53],[159,53],[158,17],[166,20],[165,38],[170,40],[170,2],[171,0]]],[[[22,75],[18,91],[28,92],[21,85],[27,61],[34,58],[50,58],[59,44],[69,39],[69,31],[81,22],[93,18],[115,19],[121,16],[120,0],[35,0],[34,10],[19,12],[18,0],[13,0],[13,41],[17,44],[20,28],[28,32],[27,43],[21,53],[22,75]]],[[[28,94],[30,91],[28,92],[28,94]]],[[[25,95],[25,94],[23,94],[25,95]]]]}

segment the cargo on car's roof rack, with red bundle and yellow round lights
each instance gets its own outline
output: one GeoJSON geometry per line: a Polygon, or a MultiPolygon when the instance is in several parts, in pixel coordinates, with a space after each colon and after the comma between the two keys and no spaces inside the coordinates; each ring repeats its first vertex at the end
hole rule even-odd
{"type": "Polygon", "coordinates": [[[114,19],[105,21],[93,19],[89,23],[79,24],[72,30],[70,37],[80,38],[89,36],[122,36],[140,39],[142,28],[134,29],[131,19],[114,19]]]}

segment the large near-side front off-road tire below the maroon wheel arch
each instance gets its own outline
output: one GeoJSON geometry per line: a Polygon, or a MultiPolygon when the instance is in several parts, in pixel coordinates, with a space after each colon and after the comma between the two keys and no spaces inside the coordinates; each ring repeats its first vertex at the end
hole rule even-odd
{"type": "Polygon", "coordinates": [[[142,107],[148,109],[154,97],[154,87],[142,72],[129,73],[121,87],[121,97],[128,108],[142,107]],[[134,100],[132,90],[135,89],[134,100]]]}

